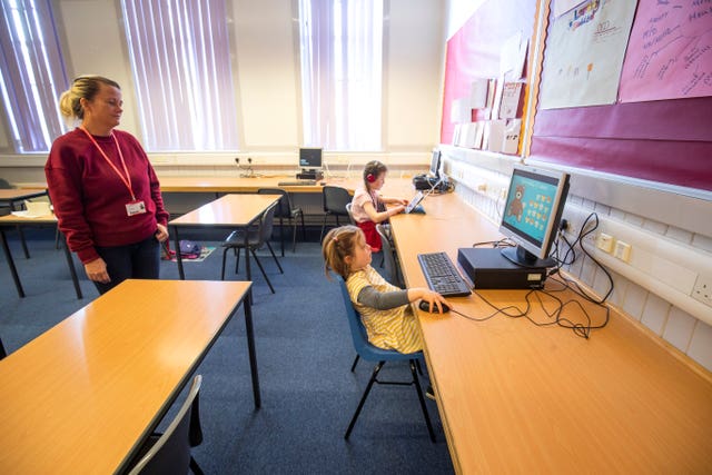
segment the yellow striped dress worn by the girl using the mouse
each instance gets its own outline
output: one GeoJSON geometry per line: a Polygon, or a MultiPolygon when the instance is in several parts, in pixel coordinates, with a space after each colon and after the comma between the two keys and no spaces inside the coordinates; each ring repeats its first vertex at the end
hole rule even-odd
{"type": "Polygon", "coordinates": [[[366,327],[368,342],[383,349],[395,349],[399,353],[414,353],[423,349],[421,328],[409,305],[378,310],[365,307],[357,301],[358,294],[364,287],[372,286],[378,291],[400,290],[390,285],[373,267],[357,270],[346,279],[348,294],[354,307],[360,314],[366,327]]]}

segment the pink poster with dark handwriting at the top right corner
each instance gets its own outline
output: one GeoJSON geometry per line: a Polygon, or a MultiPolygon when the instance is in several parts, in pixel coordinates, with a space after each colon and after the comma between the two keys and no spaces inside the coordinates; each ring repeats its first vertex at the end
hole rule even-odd
{"type": "Polygon", "coordinates": [[[712,96],[712,0],[640,0],[621,102],[712,96]]]}

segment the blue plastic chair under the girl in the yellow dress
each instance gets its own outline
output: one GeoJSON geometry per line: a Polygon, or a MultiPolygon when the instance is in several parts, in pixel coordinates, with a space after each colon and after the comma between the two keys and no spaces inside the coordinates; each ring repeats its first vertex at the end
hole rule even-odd
{"type": "Polygon", "coordinates": [[[368,380],[368,385],[366,386],[366,390],[358,403],[358,407],[356,408],[356,413],[354,417],[352,417],[352,422],[346,429],[346,434],[344,438],[348,441],[348,437],[354,429],[354,425],[356,425],[356,419],[358,419],[358,415],[364,407],[364,403],[366,403],[366,398],[368,397],[368,393],[370,393],[370,388],[374,383],[377,384],[388,384],[388,385],[398,385],[398,386],[411,386],[415,385],[415,390],[418,394],[418,399],[421,402],[421,409],[423,410],[423,417],[425,417],[425,424],[427,425],[427,432],[431,435],[431,441],[435,442],[435,433],[433,432],[433,425],[431,424],[431,417],[427,413],[427,407],[425,406],[425,397],[423,396],[423,389],[421,388],[421,383],[418,380],[417,373],[417,362],[423,360],[423,352],[417,353],[398,353],[393,349],[382,349],[378,348],[370,343],[368,343],[368,335],[366,334],[366,328],[360,321],[360,315],[354,308],[352,304],[350,296],[348,295],[348,289],[346,288],[346,283],[339,279],[339,285],[342,288],[342,296],[344,297],[344,307],[346,308],[346,317],[348,318],[348,326],[352,330],[352,339],[354,342],[354,348],[358,356],[367,362],[377,362],[376,367],[374,368],[370,379],[368,380]],[[386,364],[386,362],[404,362],[407,360],[411,364],[411,374],[413,375],[413,379],[411,382],[384,382],[378,380],[378,373],[380,368],[386,364]]]}

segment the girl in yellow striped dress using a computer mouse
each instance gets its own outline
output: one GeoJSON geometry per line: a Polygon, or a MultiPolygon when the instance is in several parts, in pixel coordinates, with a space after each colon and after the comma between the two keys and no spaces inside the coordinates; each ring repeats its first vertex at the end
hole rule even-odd
{"type": "Polygon", "coordinates": [[[360,314],[368,342],[383,349],[414,353],[423,349],[423,340],[413,309],[417,299],[442,310],[445,298],[428,288],[400,289],[388,284],[370,266],[370,246],[356,226],[332,229],[322,245],[325,273],[342,276],[350,300],[360,314]]]}

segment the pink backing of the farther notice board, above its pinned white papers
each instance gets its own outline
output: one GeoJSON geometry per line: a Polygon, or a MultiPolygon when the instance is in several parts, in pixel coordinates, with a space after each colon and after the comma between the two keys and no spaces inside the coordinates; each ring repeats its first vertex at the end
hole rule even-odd
{"type": "Polygon", "coordinates": [[[523,39],[532,37],[535,7],[532,0],[486,0],[447,40],[441,144],[453,142],[455,125],[449,113],[453,100],[468,97],[475,78],[500,75],[505,41],[516,33],[523,39]]]}

